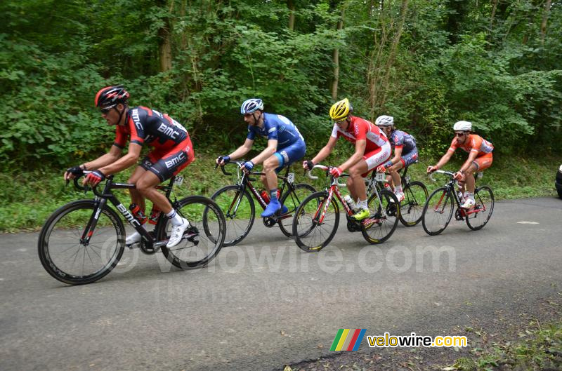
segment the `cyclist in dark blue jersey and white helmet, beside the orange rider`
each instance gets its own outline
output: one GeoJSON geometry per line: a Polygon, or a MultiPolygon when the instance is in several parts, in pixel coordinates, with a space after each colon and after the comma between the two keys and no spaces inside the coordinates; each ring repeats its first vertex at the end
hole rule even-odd
{"type": "Polygon", "coordinates": [[[418,158],[416,140],[412,135],[402,130],[396,130],[393,116],[379,116],[374,123],[386,134],[391,147],[394,149],[394,157],[377,168],[377,172],[388,171],[394,184],[394,194],[398,202],[404,200],[402,182],[398,170],[415,163],[418,158]]]}

